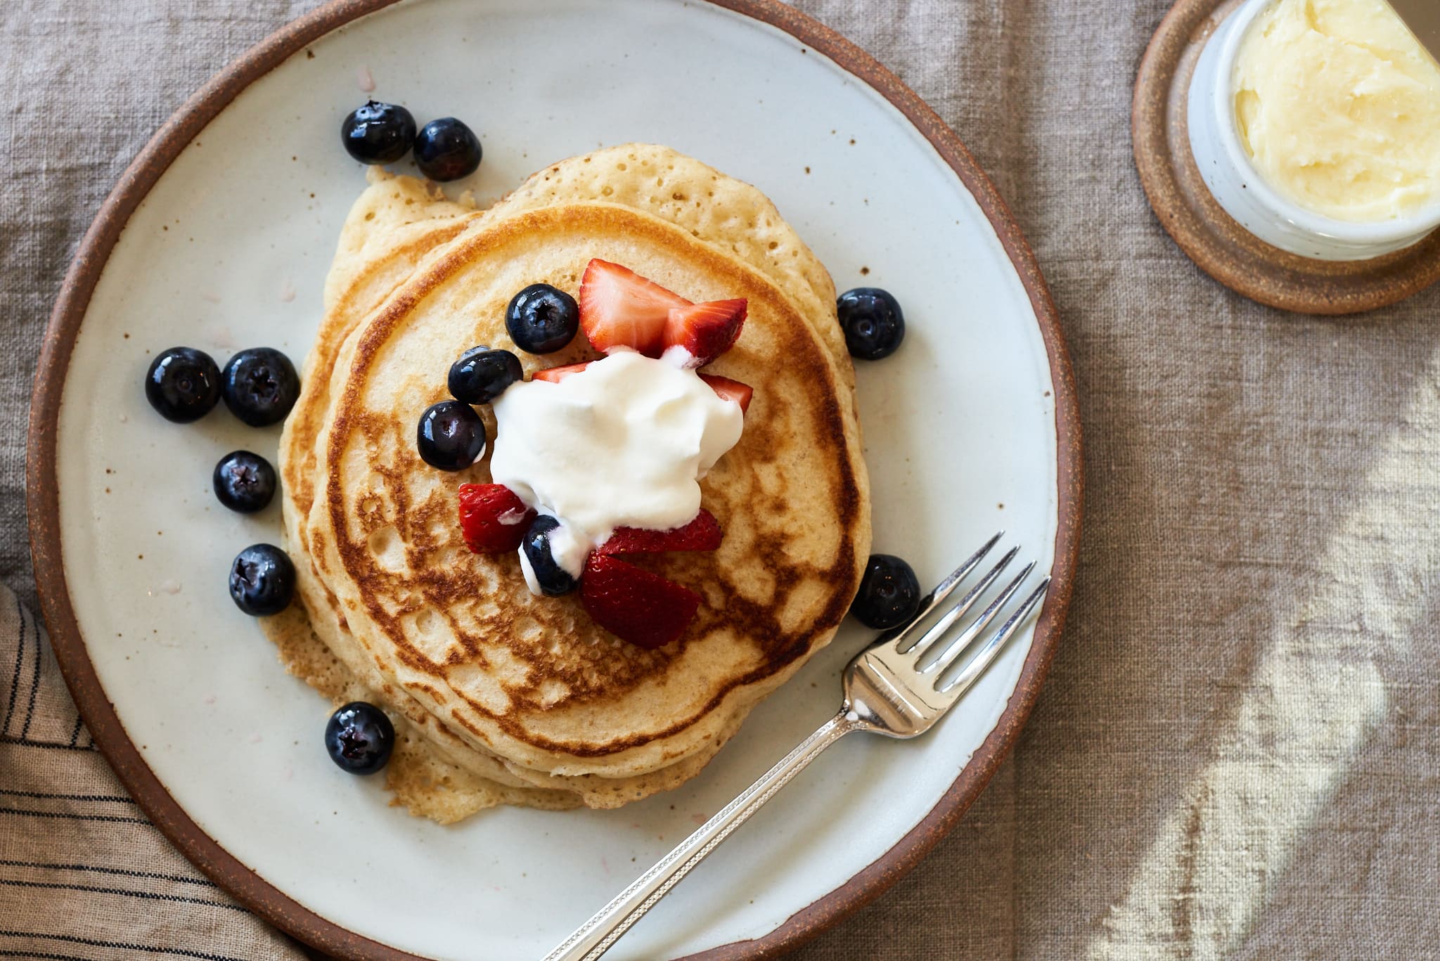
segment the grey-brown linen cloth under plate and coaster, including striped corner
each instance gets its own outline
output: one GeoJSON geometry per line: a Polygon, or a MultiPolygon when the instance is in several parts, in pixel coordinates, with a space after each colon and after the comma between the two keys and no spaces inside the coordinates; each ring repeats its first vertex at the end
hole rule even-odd
{"type": "MultiPolygon", "coordinates": [[[[71,252],[161,121],[311,6],[0,4],[0,578],[30,609],[26,409],[71,252]]],[[[1440,288],[1316,320],[1185,259],[1128,133],[1165,0],[799,6],[929,101],[1014,209],[1074,356],[1087,499],[1012,758],[796,957],[1436,957],[1440,288]]],[[[7,595],[0,710],[0,957],[301,957],[124,798],[7,595]]]]}

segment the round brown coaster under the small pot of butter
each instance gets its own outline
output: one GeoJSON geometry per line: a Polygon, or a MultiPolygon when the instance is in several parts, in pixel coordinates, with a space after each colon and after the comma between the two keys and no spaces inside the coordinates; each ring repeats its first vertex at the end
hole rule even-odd
{"type": "Polygon", "coordinates": [[[1176,0],[1140,61],[1130,137],[1140,184],[1161,225],[1189,259],[1230,290],[1302,314],[1358,314],[1440,280],[1440,231],[1369,261],[1318,261],[1270,246],[1210,195],[1189,151],[1189,78],[1205,40],[1241,3],[1176,0]]]}

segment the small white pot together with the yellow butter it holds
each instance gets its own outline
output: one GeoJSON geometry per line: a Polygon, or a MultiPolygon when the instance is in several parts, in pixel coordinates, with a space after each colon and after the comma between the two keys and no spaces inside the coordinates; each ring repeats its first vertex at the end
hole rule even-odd
{"type": "Polygon", "coordinates": [[[1267,243],[1358,261],[1440,226],[1440,63],[1385,0],[1247,0],[1188,101],[1207,187],[1267,243]]]}

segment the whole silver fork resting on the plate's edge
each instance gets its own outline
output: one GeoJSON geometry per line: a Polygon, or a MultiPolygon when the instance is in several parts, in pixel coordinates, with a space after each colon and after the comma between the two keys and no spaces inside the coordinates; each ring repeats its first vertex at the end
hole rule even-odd
{"type": "Polygon", "coordinates": [[[775,797],[791,778],[819,756],[821,751],[850,732],[868,730],[887,738],[914,738],[933,728],[935,722],[953,707],[971,684],[991,666],[1001,647],[1020,628],[1031,609],[1040,604],[1040,598],[1050,586],[1050,578],[1041,579],[1040,585],[1021,601],[1001,628],[985,640],[975,657],[952,676],[948,669],[953,667],[960,654],[972,647],[985,628],[999,617],[1001,609],[1015,596],[1021,584],[1035,568],[1034,562],[1025,565],[1025,569],[963,631],[949,644],[939,644],[1020,553],[1020,547],[1011,547],[960,598],[959,604],[935,621],[919,640],[910,640],[920,624],[950,596],[962,581],[975,572],[1002,535],[1004,532],[991,537],[984,547],[945,578],[920,602],[920,612],[909,624],[881,634],[874,644],[850,661],[845,669],[845,699],[834,718],[821,725],[819,730],[802,741],[798,748],[785,755],[779,764],[742,791],[736,800],[706,821],[694,834],[677,844],[635,883],[616,895],[611,903],[600,908],[595,916],[547,954],[544,961],[593,961],[609,951],[621,935],[631,929],[631,925],[690,873],[691,867],[719,847],[720,841],[730,837],[734,828],[744,824],[752,814],[760,810],[762,804],[775,797]]]}

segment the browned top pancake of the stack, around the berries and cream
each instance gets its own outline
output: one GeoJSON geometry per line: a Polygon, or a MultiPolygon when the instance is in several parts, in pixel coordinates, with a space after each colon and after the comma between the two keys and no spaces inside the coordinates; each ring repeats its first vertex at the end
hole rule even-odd
{"type": "MultiPolygon", "coordinates": [[[[579,337],[559,354],[521,356],[533,372],[595,354],[579,337]]],[[[337,369],[311,549],[361,615],[380,673],[477,746],[536,766],[546,754],[639,746],[652,749],[621,766],[684,756],[726,726],[727,702],[743,712],[827,641],[854,594],[868,503],[835,360],[768,278],[662,220],[566,205],[469,231],[356,331],[337,369]],[[691,630],[660,651],[611,637],[575,596],[531,596],[514,556],[469,555],[455,490],[488,481],[488,467],[442,474],[415,452],[415,422],[445,398],[449,360],[475,343],[513,347],[503,316],[514,290],[573,292],[590,256],[691,300],[750,301],[740,341],[708,369],[756,388],[739,445],[703,483],[721,547],[644,562],[704,598],[691,630]]]]}

